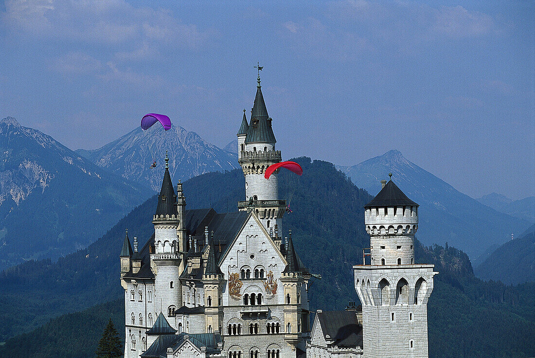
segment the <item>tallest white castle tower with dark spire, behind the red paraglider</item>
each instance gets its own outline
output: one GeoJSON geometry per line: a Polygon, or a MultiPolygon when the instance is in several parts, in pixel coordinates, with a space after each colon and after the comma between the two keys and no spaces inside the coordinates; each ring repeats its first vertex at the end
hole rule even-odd
{"type": "MultiPolygon", "coordinates": [[[[262,67],[259,67],[261,69],[262,67]]],[[[271,174],[269,180],[264,172],[271,164],[281,161],[280,150],[275,150],[275,135],[271,128],[271,118],[262,95],[260,75],[258,75],[256,97],[251,110],[251,120],[243,113],[243,120],[238,131],[238,162],[245,176],[246,200],[238,202],[239,210],[255,210],[264,227],[278,225],[282,231],[286,201],[279,200],[278,170],[271,174]]]]}

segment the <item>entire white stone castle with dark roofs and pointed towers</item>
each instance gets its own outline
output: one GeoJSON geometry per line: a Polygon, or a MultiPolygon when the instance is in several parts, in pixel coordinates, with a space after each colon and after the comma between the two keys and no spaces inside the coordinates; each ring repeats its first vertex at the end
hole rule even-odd
{"type": "Polygon", "coordinates": [[[186,210],[166,156],[154,234],[141,248],[125,235],[125,358],[426,357],[436,272],[414,264],[418,205],[392,181],[365,209],[371,262],[354,266],[362,313],[318,310],[311,330],[311,274],[291,231],[282,234],[278,170],[264,178],[281,152],[257,82],[250,121],[244,111],[237,134],[246,189],[238,211],[186,210]]]}

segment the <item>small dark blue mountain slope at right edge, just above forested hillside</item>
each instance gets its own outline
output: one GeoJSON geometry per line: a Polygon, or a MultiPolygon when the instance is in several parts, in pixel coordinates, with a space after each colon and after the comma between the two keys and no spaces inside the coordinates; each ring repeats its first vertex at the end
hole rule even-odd
{"type": "Polygon", "coordinates": [[[482,280],[508,285],[535,282],[535,232],[504,243],[477,266],[475,273],[482,280]]]}

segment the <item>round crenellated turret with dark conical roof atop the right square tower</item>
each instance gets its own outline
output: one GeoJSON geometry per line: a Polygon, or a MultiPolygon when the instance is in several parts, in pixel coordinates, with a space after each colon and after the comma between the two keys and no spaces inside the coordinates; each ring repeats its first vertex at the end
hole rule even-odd
{"type": "Polygon", "coordinates": [[[365,205],[364,223],[370,234],[372,265],[414,264],[414,235],[418,229],[418,204],[391,180],[365,205]]]}

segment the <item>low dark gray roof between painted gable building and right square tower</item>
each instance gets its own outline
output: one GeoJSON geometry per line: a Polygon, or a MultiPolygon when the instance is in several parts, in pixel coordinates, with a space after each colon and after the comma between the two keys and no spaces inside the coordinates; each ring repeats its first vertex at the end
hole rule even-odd
{"type": "Polygon", "coordinates": [[[362,325],[355,311],[323,311],[317,315],[325,339],[335,340],[339,347],[362,347],[362,325]]]}

